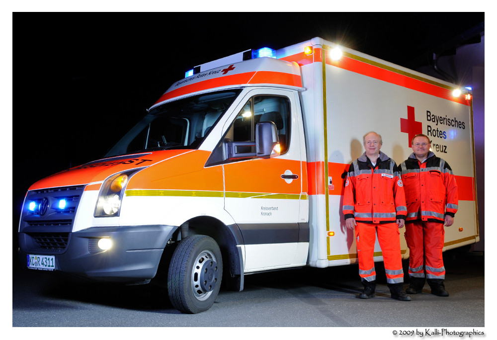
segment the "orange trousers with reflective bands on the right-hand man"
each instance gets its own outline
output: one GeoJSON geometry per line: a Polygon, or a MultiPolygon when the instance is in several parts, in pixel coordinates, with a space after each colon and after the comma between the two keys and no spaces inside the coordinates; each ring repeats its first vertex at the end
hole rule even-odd
{"type": "Polygon", "coordinates": [[[406,242],[409,247],[409,276],[445,279],[445,267],[443,266],[442,258],[444,235],[443,223],[406,223],[406,242]]]}

